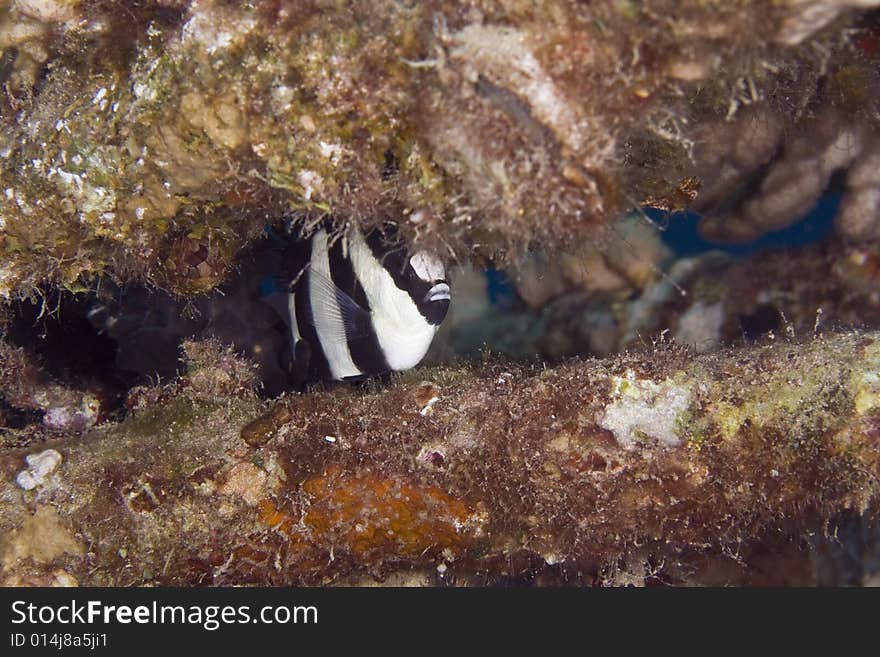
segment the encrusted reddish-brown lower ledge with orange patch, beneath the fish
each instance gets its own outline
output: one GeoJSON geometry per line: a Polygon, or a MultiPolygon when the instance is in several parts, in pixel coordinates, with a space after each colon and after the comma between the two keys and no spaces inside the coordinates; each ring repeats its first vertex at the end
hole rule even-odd
{"type": "Polygon", "coordinates": [[[0,452],[0,583],[719,583],[699,564],[880,494],[880,333],[272,402],[209,351],[122,422],[0,452]]]}

